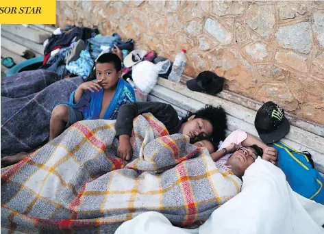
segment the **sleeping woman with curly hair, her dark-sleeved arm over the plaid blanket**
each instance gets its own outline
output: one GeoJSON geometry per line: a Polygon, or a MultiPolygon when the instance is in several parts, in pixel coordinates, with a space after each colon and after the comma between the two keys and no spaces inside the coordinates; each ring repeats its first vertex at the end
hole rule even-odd
{"type": "Polygon", "coordinates": [[[133,120],[140,114],[151,113],[164,124],[169,134],[181,133],[197,141],[198,138],[211,137],[213,142],[225,138],[226,114],[222,107],[206,105],[197,112],[189,112],[186,118],[179,120],[172,105],[160,102],[134,102],[122,105],[116,118],[116,137],[119,138],[117,156],[128,161],[132,158],[133,120]]]}

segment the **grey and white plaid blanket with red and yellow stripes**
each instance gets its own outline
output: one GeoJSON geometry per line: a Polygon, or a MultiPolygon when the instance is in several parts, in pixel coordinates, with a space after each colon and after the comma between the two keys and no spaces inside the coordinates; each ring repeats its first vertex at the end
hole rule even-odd
{"type": "Polygon", "coordinates": [[[205,148],[169,135],[151,114],[134,120],[134,157],[116,157],[115,120],[84,120],[1,175],[1,229],[113,233],[158,211],[177,226],[201,224],[238,194],[240,179],[205,148]]]}

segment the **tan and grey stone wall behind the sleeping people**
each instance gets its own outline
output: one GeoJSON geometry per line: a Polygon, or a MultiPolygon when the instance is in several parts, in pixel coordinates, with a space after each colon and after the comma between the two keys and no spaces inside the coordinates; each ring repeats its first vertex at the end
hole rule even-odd
{"type": "Polygon", "coordinates": [[[324,124],[324,1],[58,1],[58,25],[97,26],[212,70],[226,89],[324,124]]]}

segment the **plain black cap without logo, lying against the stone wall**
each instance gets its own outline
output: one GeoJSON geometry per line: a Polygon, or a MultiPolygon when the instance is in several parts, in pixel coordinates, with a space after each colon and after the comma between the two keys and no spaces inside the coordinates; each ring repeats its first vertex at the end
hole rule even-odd
{"type": "Polygon", "coordinates": [[[224,78],[205,70],[195,79],[188,80],[186,84],[189,90],[215,95],[223,90],[224,78]]]}

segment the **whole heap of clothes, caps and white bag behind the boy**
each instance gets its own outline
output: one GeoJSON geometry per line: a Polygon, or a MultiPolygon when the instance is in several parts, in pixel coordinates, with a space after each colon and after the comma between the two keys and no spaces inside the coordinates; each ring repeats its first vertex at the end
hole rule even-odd
{"type": "Polygon", "coordinates": [[[131,38],[123,41],[117,33],[103,36],[97,29],[86,27],[58,28],[44,46],[45,57],[40,69],[58,73],[61,79],[80,76],[85,81],[95,79],[94,60],[101,53],[113,52],[114,47],[118,47],[123,53],[122,77],[131,83],[138,101],[147,101],[158,77],[168,79],[173,65],[165,57],[157,57],[155,51],[133,51],[131,38]]]}

